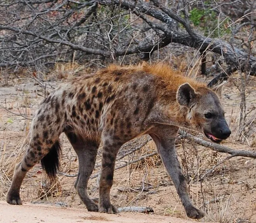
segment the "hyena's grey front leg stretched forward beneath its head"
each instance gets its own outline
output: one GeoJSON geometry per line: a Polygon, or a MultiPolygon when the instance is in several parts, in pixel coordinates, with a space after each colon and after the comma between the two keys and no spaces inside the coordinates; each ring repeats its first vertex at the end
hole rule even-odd
{"type": "Polygon", "coordinates": [[[187,216],[194,219],[201,219],[204,217],[204,212],[193,206],[189,197],[187,183],[178,161],[175,148],[175,138],[177,131],[178,127],[175,126],[165,126],[164,128],[159,127],[154,129],[150,136],[153,138],[155,144],[157,145],[157,151],[164,163],[168,174],[172,178],[187,216]]]}

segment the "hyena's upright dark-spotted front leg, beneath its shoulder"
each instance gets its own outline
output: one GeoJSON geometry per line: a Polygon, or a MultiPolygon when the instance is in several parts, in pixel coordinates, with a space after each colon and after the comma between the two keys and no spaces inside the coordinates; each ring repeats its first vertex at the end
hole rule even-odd
{"type": "Polygon", "coordinates": [[[99,212],[109,214],[118,213],[117,208],[111,204],[110,189],[113,185],[115,161],[118,150],[123,143],[112,137],[103,137],[101,177],[99,181],[99,212]]]}

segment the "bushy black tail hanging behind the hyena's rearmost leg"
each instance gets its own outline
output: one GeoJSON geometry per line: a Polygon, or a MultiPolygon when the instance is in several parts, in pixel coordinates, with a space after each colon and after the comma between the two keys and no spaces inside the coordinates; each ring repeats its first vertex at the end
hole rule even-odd
{"type": "Polygon", "coordinates": [[[46,174],[54,179],[59,170],[59,155],[61,155],[61,146],[59,141],[57,140],[49,153],[41,159],[42,168],[46,171],[46,174]]]}

